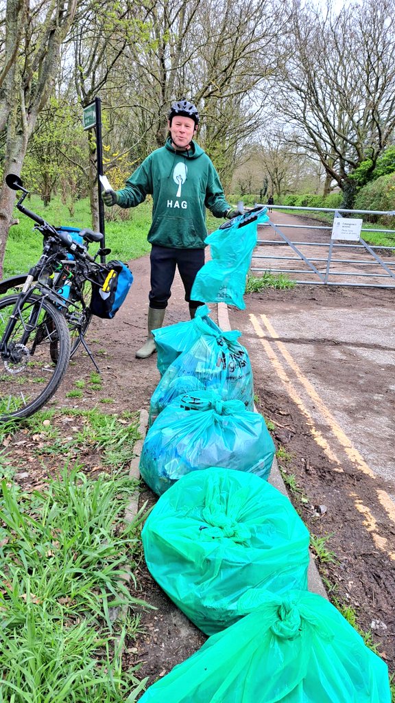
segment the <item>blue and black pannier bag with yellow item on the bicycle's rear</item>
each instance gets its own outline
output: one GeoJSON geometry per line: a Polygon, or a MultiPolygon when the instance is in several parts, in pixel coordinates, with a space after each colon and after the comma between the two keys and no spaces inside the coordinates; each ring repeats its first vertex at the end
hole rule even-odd
{"type": "Polygon", "coordinates": [[[104,264],[92,280],[91,313],[96,317],[113,318],[132,283],[133,274],[127,264],[119,261],[104,264]]]}

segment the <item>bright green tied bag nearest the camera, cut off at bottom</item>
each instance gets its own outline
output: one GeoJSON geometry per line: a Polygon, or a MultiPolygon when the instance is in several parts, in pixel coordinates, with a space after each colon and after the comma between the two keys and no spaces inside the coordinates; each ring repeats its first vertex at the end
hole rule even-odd
{"type": "Polygon", "coordinates": [[[262,600],[140,703],[390,703],[387,664],[330,602],[307,591],[262,600]]]}

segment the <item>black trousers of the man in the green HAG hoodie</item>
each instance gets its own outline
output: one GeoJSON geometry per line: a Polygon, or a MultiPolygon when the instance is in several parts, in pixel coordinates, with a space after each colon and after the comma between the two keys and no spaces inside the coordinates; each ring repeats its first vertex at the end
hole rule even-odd
{"type": "Polygon", "coordinates": [[[156,310],[164,310],[171,296],[171,285],[174,281],[176,266],[178,266],[183,287],[185,288],[185,299],[191,308],[197,308],[202,303],[199,300],[190,299],[190,291],[197,271],[205,263],[204,249],[175,249],[173,247],[158,247],[153,245],[150,254],[151,263],[151,290],[150,307],[156,310]]]}

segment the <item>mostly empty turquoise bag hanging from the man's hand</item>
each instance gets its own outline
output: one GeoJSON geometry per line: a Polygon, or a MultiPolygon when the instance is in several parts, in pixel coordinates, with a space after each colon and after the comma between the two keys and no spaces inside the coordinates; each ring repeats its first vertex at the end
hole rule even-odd
{"type": "Polygon", "coordinates": [[[243,295],[252,252],[257,245],[257,224],[268,220],[264,213],[257,220],[240,226],[235,218],[226,229],[217,229],[205,243],[210,247],[211,261],[197,272],[191,297],[202,302],[224,302],[245,309],[243,295]]]}

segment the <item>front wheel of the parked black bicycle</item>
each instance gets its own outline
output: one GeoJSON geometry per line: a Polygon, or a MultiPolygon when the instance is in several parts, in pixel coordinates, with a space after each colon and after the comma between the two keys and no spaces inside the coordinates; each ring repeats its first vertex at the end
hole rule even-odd
{"type": "Polygon", "coordinates": [[[58,389],[70,361],[65,318],[41,296],[30,295],[15,309],[18,295],[0,299],[0,420],[26,418],[58,389]],[[13,328],[8,340],[8,322],[13,328]],[[57,344],[58,359],[51,358],[57,344]]]}

